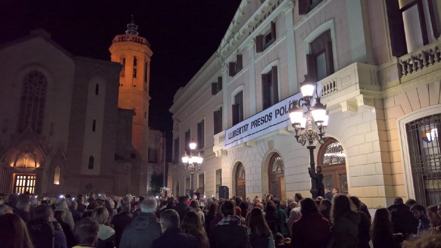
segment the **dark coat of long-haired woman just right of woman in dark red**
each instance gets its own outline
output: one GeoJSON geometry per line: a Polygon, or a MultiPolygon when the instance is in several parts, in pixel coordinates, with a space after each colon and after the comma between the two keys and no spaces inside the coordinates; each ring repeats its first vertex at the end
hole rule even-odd
{"type": "Polygon", "coordinates": [[[338,218],[331,228],[333,248],[356,248],[359,243],[360,215],[350,211],[338,218]]]}

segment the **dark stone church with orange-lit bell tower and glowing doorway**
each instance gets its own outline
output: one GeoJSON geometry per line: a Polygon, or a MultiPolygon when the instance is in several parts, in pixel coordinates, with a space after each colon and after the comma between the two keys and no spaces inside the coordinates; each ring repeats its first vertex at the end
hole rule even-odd
{"type": "Polygon", "coordinates": [[[127,26],[112,61],[74,56],[44,30],[0,47],[0,193],[146,195],[152,52],[127,26]]]}

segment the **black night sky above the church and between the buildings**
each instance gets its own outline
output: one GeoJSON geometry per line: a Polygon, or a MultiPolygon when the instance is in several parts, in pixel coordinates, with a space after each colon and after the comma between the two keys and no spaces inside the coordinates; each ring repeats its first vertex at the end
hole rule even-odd
{"type": "Polygon", "coordinates": [[[43,28],[76,56],[110,60],[109,46],[131,15],[153,51],[150,66],[151,129],[167,132],[171,161],[173,95],[216,51],[240,0],[4,0],[0,43],[43,28]]]}

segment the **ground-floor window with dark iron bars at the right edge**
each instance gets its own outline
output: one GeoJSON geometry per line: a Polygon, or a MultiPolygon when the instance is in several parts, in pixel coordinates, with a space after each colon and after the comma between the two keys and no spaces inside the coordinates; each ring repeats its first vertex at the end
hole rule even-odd
{"type": "Polygon", "coordinates": [[[441,202],[441,114],[406,124],[415,197],[424,206],[441,202]]]}

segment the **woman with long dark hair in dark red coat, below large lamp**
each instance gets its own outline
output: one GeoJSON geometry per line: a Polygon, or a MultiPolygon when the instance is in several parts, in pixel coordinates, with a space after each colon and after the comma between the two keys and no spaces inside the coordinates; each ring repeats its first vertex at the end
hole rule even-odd
{"type": "Polygon", "coordinates": [[[318,213],[317,204],[313,199],[303,199],[300,210],[302,217],[296,220],[291,228],[291,247],[326,248],[331,238],[329,221],[318,213]]]}

